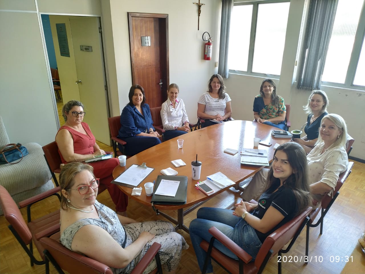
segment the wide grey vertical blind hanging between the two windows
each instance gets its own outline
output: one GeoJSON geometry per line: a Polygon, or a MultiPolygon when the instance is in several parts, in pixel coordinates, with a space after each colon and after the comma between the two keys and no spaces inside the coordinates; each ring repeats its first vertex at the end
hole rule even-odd
{"type": "Polygon", "coordinates": [[[338,0],[310,0],[297,74],[297,88],[319,90],[338,0]]]}

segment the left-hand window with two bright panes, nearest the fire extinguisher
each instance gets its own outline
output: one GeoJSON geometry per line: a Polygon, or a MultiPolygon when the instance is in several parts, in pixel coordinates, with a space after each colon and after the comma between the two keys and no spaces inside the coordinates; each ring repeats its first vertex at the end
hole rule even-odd
{"type": "Polygon", "coordinates": [[[230,72],[280,75],[289,4],[234,4],[228,51],[230,72]]]}

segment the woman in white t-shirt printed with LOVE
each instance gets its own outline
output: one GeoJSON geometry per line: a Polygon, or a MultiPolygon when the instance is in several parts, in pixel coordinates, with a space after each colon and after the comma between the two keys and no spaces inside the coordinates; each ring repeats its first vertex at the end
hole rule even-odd
{"type": "Polygon", "coordinates": [[[226,93],[223,78],[214,74],[208,82],[208,91],[200,96],[198,100],[199,118],[204,119],[203,127],[215,125],[216,121],[227,121],[232,115],[231,98],[226,93]]]}

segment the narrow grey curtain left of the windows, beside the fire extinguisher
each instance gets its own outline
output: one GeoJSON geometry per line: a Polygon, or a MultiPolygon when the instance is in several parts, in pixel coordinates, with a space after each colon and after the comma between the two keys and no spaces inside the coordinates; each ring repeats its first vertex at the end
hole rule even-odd
{"type": "Polygon", "coordinates": [[[233,9],[233,0],[222,0],[218,74],[222,75],[223,78],[228,78],[228,42],[229,42],[229,31],[230,31],[232,9],[233,9]]]}

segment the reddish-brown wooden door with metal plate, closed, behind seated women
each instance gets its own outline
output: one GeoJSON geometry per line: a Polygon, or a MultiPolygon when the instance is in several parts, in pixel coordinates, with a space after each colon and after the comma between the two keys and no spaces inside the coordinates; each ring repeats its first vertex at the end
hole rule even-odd
{"type": "Polygon", "coordinates": [[[128,25],[132,83],[145,89],[150,107],[159,107],[169,85],[168,15],[128,12],[128,25]],[[150,46],[142,46],[145,36],[150,46]]]}

